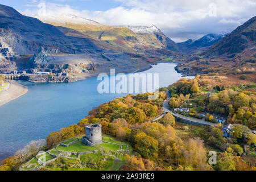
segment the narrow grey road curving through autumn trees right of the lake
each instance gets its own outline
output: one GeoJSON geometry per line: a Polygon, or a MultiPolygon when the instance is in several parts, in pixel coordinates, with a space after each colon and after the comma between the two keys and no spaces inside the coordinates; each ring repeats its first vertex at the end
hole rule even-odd
{"type": "Polygon", "coordinates": [[[185,115],[181,115],[181,114],[175,113],[174,111],[171,111],[169,109],[169,106],[168,106],[168,102],[170,101],[170,93],[168,92],[168,90],[167,90],[166,94],[167,94],[168,98],[167,98],[166,101],[163,102],[163,111],[165,113],[171,113],[176,118],[180,118],[180,119],[183,119],[185,121],[192,122],[192,123],[199,123],[200,125],[207,125],[207,126],[214,126],[214,125],[216,125],[214,123],[210,123],[210,122],[204,121],[204,119],[191,118],[191,117],[187,117],[185,115]]]}

